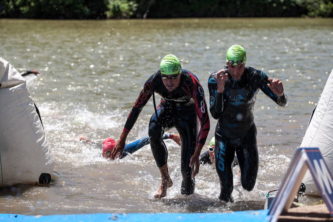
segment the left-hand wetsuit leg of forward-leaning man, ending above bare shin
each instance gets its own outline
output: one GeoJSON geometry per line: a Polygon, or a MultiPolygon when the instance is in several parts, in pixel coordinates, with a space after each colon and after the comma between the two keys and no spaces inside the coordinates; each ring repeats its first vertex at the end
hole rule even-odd
{"type": "Polygon", "coordinates": [[[163,107],[157,110],[159,121],[157,121],[156,114],[154,113],[149,122],[148,135],[150,137],[150,146],[152,148],[153,156],[158,167],[162,167],[167,163],[167,149],[162,136],[164,130],[173,127],[173,120],[168,111],[163,107]]]}

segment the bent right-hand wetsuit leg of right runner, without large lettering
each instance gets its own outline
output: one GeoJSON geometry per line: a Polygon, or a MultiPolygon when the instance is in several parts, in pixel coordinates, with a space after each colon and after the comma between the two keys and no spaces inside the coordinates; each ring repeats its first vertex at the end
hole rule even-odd
{"type": "Polygon", "coordinates": [[[236,148],[242,187],[247,191],[253,189],[259,168],[256,136],[257,128],[253,124],[245,135],[241,145],[236,148]]]}

